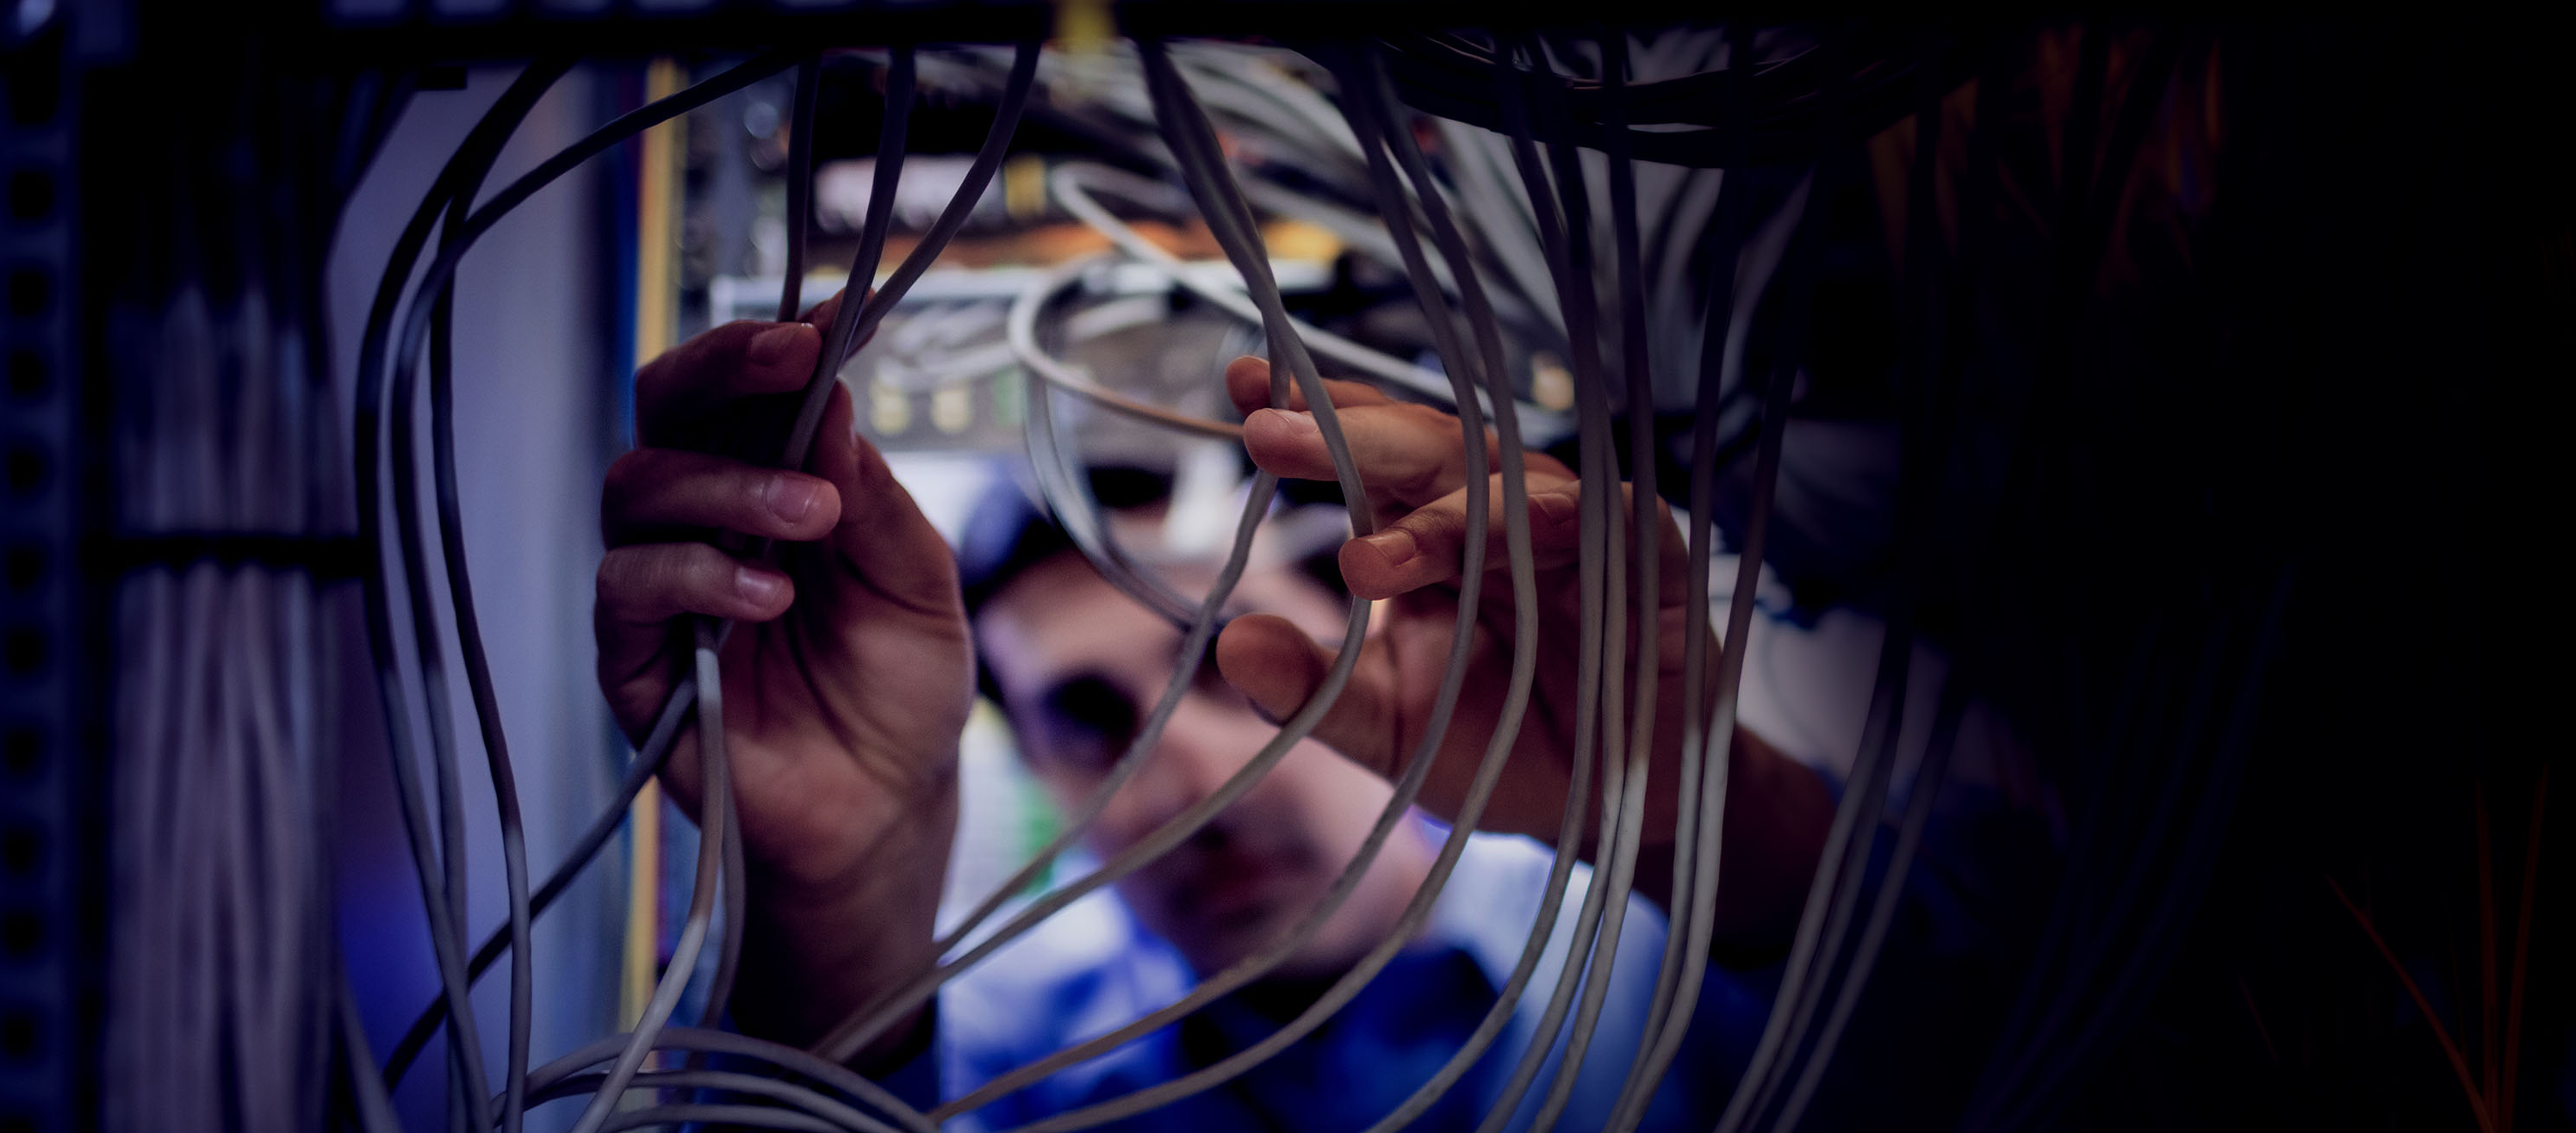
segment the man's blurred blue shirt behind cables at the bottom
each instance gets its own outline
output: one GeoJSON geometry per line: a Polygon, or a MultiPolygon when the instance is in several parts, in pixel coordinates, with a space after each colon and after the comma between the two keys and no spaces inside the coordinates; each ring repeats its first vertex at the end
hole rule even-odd
{"type": "MultiPolygon", "coordinates": [[[[1530,937],[1551,852],[1530,839],[1473,834],[1458,857],[1422,937],[1396,955],[1321,1030],[1226,1087],[1097,1125],[1115,1133],[1270,1130],[1352,1133],[1401,1105],[1476,1030],[1530,937]]],[[[1530,1045],[1564,955],[1589,870],[1574,883],[1512,1022],[1466,1079],[1414,1130],[1473,1130],[1530,1045]]],[[[1584,1056],[1571,1105],[1556,1128],[1595,1130],[1610,1118],[1654,997],[1664,958],[1664,914],[1631,899],[1600,1027],[1584,1056]]],[[[1677,1066],[1646,1115],[1646,1130],[1705,1130],[1726,1107],[1770,1009],[1770,986],[1721,966],[1705,968],[1700,1004],[1677,1066]]],[[[886,1087],[927,1110],[1072,1043],[1115,1030],[1180,999],[1198,976],[1128,909],[1097,891],[1041,922],[1025,937],[951,981],[938,999],[930,1051],[886,1076],[886,1087]]],[[[1579,1002],[1579,999],[1577,999],[1579,1002]]],[[[1571,1015],[1571,1012],[1569,1012],[1571,1015]]],[[[1136,1043],[1066,1066],[1054,1076],[956,1118],[953,1130],[1007,1130],[1084,1105],[1177,1079],[1278,1030],[1283,1017],[1249,997],[1218,999],[1136,1043]]],[[[1512,1130],[1528,1128],[1556,1076],[1558,1035],[1512,1130]]]]}

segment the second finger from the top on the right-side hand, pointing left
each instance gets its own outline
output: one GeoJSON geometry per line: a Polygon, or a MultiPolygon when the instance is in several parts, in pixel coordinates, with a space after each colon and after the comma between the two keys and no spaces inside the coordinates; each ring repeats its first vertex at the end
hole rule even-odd
{"type": "MultiPolygon", "coordinates": [[[[1466,484],[1466,438],[1458,417],[1427,404],[1365,404],[1342,409],[1340,417],[1342,443],[1350,445],[1360,484],[1381,507],[1422,507],[1466,484]]],[[[1244,453],[1278,476],[1334,479],[1332,448],[1324,445],[1324,430],[1309,412],[1255,409],[1244,417],[1244,453]]],[[[1502,461],[1494,433],[1484,435],[1484,458],[1486,469],[1502,461]]],[[[1540,464],[1525,469],[1543,482],[1556,479],[1540,464]]]]}

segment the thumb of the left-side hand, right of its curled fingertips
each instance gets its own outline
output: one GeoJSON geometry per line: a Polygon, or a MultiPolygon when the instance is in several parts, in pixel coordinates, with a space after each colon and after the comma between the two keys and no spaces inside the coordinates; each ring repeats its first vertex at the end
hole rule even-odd
{"type": "Polygon", "coordinates": [[[948,541],[894,479],[886,456],[853,425],[850,389],[832,389],[814,443],[814,474],[840,492],[832,546],[868,590],[917,613],[956,615],[958,569],[948,541]]]}

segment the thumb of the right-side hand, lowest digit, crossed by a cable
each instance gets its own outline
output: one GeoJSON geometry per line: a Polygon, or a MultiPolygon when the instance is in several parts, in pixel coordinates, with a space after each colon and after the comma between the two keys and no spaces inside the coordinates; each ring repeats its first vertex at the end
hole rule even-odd
{"type": "MultiPolygon", "coordinates": [[[[1334,651],[1275,613],[1234,618],[1216,639],[1216,670],[1270,718],[1285,721],[1324,685],[1334,651]]],[[[1360,654],[1350,682],[1314,726],[1314,739],[1381,775],[1396,762],[1394,677],[1381,646],[1360,654]]]]}

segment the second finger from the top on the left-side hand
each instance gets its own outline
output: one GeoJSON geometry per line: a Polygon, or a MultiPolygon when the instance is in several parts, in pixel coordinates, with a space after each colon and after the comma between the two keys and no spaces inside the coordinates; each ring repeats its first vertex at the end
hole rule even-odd
{"type": "Polygon", "coordinates": [[[683,448],[636,448],[608,466],[600,533],[608,546],[662,541],[688,528],[809,541],[840,523],[840,492],[822,476],[760,469],[683,448]]]}

